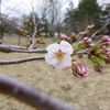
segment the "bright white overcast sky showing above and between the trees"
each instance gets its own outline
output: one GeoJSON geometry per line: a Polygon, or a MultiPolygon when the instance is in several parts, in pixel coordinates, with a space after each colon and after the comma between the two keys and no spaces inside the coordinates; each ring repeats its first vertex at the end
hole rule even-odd
{"type": "MultiPolygon", "coordinates": [[[[1,7],[1,12],[11,12],[8,10],[8,8],[14,9],[16,10],[16,12],[14,12],[13,14],[21,15],[22,13],[29,13],[31,12],[31,2],[32,0],[1,0],[3,2],[2,7],[1,7]],[[19,4],[19,6],[18,6],[19,4]],[[11,6],[11,7],[10,7],[11,6]],[[7,10],[6,10],[7,9],[7,10]]],[[[37,3],[40,3],[40,0],[34,0],[37,1],[37,3]]],[[[69,1],[69,0],[68,0],[69,1]]],[[[74,1],[74,6],[77,7],[79,0],[73,0],[74,1]]],[[[110,0],[98,0],[98,2],[101,3],[110,3],[110,0]]],[[[68,7],[68,4],[65,6],[65,9],[68,7]]],[[[12,13],[11,13],[12,14],[12,13]]]]}

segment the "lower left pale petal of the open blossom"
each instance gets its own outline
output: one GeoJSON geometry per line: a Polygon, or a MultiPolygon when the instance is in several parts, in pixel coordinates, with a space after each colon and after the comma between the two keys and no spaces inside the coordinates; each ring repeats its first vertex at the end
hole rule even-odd
{"type": "Polygon", "coordinates": [[[57,63],[57,58],[54,57],[54,54],[45,54],[45,61],[51,65],[57,63]]]}

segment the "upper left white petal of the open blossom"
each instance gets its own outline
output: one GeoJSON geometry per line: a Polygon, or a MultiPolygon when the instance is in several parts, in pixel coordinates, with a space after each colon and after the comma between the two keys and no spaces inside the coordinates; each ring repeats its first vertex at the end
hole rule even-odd
{"type": "Polygon", "coordinates": [[[58,50],[59,50],[59,44],[57,43],[51,44],[46,47],[47,53],[55,53],[58,52],[58,50]]]}

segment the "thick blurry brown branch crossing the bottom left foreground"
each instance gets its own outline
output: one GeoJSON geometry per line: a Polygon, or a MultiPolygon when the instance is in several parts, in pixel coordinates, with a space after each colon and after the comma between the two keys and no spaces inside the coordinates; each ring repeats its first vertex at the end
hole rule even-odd
{"type": "Polygon", "coordinates": [[[25,102],[36,110],[75,110],[70,105],[48,96],[38,88],[3,74],[0,74],[0,92],[25,102]]]}

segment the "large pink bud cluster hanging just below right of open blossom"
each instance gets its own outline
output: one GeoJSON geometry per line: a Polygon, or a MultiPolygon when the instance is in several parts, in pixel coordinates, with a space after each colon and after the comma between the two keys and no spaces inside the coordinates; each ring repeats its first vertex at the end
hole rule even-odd
{"type": "Polygon", "coordinates": [[[81,63],[73,63],[73,75],[76,77],[87,77],[87,66],[81,63]]]}

